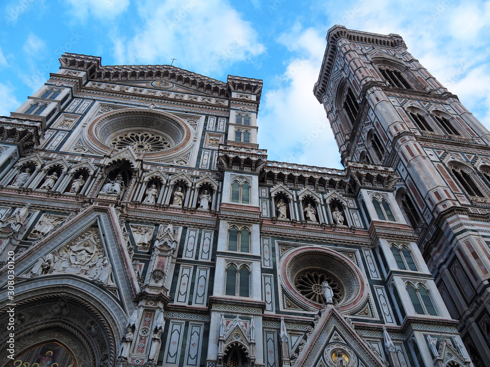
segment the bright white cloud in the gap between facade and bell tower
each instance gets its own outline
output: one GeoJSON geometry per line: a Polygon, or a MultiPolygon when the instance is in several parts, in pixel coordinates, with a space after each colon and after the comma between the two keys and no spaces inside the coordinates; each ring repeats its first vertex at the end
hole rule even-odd
{"type": "Polygon", "coordinates": [[[340,155],[322,105],[313,94],[325,50],[323,35],[295,26],[278,42],[303,55],[262,96],[259,143],[269,160],[341,168],[340,155]]]}

